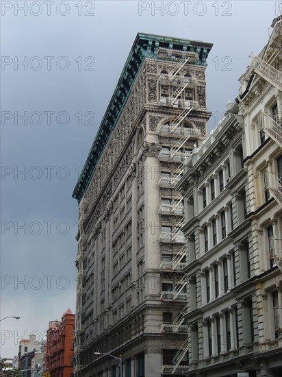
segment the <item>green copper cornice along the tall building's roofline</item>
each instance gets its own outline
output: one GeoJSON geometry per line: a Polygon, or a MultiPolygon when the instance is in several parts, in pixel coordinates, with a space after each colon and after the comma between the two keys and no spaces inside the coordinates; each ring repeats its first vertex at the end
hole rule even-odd
{"type": "MultiPolygon", "coordinates": [[[[167,36],[157,36],[151,34],[137,34],[136,40],[131,47],[131,51],[123,67],[123,71],[118,80],[118,84],[114,90],[114,94],[110,100],[109,106],[101,121],[101,125],[97,132],[94,142],[86,159],[84,168],[77,181],[73,191],[73,197],[80,202],[92,175],[97,167],[103,149],[118,122],[121,112],[126,104],[127,98],[131,92],[131,88],[138,77],[140,67],[145,58],[153,58],[156,60],[169,61],[168,57],[161,58],[157,56],[159,47],[171,49],[172,51],[191,51],[198,53],[198,62],[195,64],[205,66],[207,56],[212,47],[211,43],[205,43],[198,40],[188,40],[182,38],[171,38],[167,36]]],[[[175,60],[173,60],[175,61],[175,60]]]]}

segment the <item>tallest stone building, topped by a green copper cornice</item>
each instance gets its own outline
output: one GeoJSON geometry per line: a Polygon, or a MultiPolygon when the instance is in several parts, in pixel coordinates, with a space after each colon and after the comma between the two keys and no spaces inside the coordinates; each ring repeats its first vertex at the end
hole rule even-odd
{"type": "Polygon", "coordinates": [[[109,353],[122,358],[123,377],[161,376],[185,339],[184,206],[175,184],[207,136],[211,47],[149,34],[133,43],[73,192],[76,376],[120,376],[109,353]]]}

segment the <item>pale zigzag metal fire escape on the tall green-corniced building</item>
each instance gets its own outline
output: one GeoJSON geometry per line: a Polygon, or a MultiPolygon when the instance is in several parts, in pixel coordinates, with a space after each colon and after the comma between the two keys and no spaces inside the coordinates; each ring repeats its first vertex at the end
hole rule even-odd
{"type": "MultiPolygon", "coordinates": [[[[186,117],[192,112],[192,110],[196,110],[198,108],[198,104],[196,101],[188,101],[181,99],[181,94],[183,90],[188,87],[188,85],[192,85],[193,80],[190,77],[179,77],[179,71],[185,64],[189,61],[189,58],[185,58],[180,60],[179,64],[175,67],[168,77],[161,77],[160,80],[166,80],[166,85],[179,82],[178,88],[170,95],[170,97],[162,97],[159,101],[161,106],[170,106],[173,108],[183,109],[180,114],[177,115],[174,121],[168,125],[163,125],[162,129],[159,130],[160,136],[167,136],[167,137],[175,137],[177,141],[173,147],[170,147],[170,150],[160,151],[159,153],[159,160],[170,160],[173,162],[179,162],[179,166],[175,171],[170,173],[169,178],[165,177],[166,180],[169,182],[170,187],[174,187],[175,184],[181,178],[184,172],[184,161],[190,156],[183,156],[181,149],[185,145],[185,143],[191,137],[198,137],[200,136],[200,132],[198,130],[190,129],[181,127],[181,124],[185,120],[186,117]],[[187,80],[185,80],[185,78],[187,80]]],[[[191,87],[191,86],[190,86],[191,87]]],[[[183,97],[182,97],[183,98],[183,97]]],[[[162,178],[159,183],[162,182],[162,178]]],[[[161,184],[160,184],[161,186],[161,184]]],[[[172,200],[170,204],[170,210],[172,213],[179,212],[179,206],[183,202],[183,196],[179,193],[175,199],[172,200]]],[[[181,232],[181,228],[184,225],[184,216],[179,219],[178,223],[174,226],[171,233],[168,234],[170,241],[175,241],[177,243],[183,242],[183,233],[181,232]]],[[[161,234],[160,239],[164,238],[165,234],[161,234]]],[[[181,248],[181,250],[174,256],[171,261],[164,261],[160,265],[160,269],[163,271],[182,271],[185,267],[185,263],[182,263],[182,260],[185,256],[185,245],[181,248]]],[[[175,287],[171,291],[162,291],[160,298],[164,301],[173,301],[173,300],[187,300],[188,293],[185,292],[185,287],[187,284],[188,276],[185,274],[181,278],[179,282],[175,285],[175,287]]],[[[181,313],[177,316],[175,321],[172,324],[162,324],[162,332],[173,332],[179,334],[186,334],[188,333],[188,326],[183,324],[185,319],[185,314],[188,312],[188,305],[186,305],[181,313]]],[[[183,356],[188,351],[188,339],[185,339],[183,345],[178,350],[175,358],[172,360],[172,365],[164,365],[162,367],[162,373],[167,374],[174,374],[175,372],[181,373],[186,372],[188,370],[188,366],[179,365],[183,356]]]]}

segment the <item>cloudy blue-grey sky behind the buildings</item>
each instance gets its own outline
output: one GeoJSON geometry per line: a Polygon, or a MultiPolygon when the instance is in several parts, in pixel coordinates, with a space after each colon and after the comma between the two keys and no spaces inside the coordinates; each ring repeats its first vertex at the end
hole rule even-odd
{"type": "Polygon", "coordinates": [[[214,43],[216,126],[281,1],[1,1],[1,356],[75,311],[81,167],[138,32],[214,43]]]}

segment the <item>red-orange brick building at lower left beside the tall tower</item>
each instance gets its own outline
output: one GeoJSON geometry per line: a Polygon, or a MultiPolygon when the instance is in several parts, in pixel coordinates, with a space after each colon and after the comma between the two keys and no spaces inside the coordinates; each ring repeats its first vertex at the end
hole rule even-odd
{"type": "Polygon", "coordinates": [[[75,314],[68,308],[62,315],[62,321],[50,321],[47,330],[45,359],[51,377],[71,376],[74,339],[75,314]]]}

